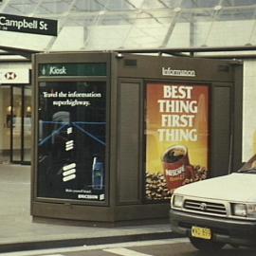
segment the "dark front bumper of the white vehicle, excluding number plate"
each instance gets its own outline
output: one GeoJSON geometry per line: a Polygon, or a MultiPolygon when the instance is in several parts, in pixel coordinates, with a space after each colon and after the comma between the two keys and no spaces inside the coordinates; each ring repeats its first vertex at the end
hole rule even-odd
{"type": "Polygon", "coordinates": [[[170,210],[170,222],[174,232],[188,237],[192,236],[192,226],[198,226],[209,228],[213,241],[256,247],[256,222],[253,221],[230,220],[170,210]]]}

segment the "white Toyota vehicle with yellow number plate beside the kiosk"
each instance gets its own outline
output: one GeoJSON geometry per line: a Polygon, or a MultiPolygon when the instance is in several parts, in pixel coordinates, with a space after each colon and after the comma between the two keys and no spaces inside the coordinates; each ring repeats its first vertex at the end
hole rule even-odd
{"type": "Polygon", "coordinates": [[[236,173],[179,187],[171,198],[174,232],[200,250],[256,247],[256,155],[236,173]]]}

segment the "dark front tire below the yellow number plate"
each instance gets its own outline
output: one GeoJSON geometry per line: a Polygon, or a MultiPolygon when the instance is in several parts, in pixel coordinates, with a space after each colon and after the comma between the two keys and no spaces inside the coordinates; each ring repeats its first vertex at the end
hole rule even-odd
{"type": "Polygon", "coordinates": [[[190,241],[193,247],[206,252],[215,252],[216,250],[222,249],[225,246],[223,243],[203,240],[199,238],[190,237],[190,241]]]}

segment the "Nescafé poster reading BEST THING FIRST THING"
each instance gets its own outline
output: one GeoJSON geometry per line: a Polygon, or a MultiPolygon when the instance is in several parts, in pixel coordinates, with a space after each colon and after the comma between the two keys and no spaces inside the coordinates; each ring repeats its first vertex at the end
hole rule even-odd
{"type": "Polygon", "coordinates": [[[146,86],[146,199],[168,199],[209,174],[209,86],[146,86]]]}

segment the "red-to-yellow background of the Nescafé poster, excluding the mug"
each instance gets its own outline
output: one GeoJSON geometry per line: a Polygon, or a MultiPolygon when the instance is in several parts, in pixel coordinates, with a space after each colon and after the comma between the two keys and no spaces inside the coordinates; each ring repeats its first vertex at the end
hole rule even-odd
{"type": "Polygon", "coordinates": [[[172,193],[170,188],[167,192],[163,186],[166,182],[163,155],[170,147],[182,145],[188,150],[187,156],[195,175],[184,180],[183,184],[204,179],[208,174],[209,86],[148,83],[146,90],[146,197],[163,199],[172,193]],[[167,87],[174,88],[174,93],[166,95],[164,88],[167,87]],[[191,105],[191,109],[181,112],[183,108],[179,101],[191,105]],[[166,107],[170,102],[174,103],[173,108],[166,107]],[[158,193],[157,198],[152,196],[150,188],[154,179],[160,180],[159,184],[165,190],[158,193]]]}

